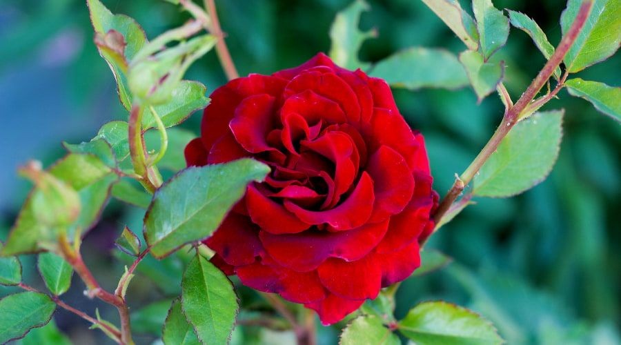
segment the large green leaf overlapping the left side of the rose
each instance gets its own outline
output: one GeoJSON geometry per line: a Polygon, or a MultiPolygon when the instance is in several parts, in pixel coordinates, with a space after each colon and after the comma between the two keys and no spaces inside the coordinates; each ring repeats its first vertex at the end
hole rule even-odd
{"type": "Polygon", "coordinates": [[[184,244],[213,233],[250,181],[262,181],[270,168],[253,159],[190,167],[153,195],[144,220],[151,254],[164,257],[184,244]]]}

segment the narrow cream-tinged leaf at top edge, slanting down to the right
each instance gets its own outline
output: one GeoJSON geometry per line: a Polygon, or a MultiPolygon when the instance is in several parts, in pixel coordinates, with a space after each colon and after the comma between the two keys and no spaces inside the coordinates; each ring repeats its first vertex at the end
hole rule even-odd
{"type": "Polygon", "coordinates": [[[457,0],[422,0],[440,17],[470,50],[479,48],[479,34],[472,17],[462,9],[457,0]]]}

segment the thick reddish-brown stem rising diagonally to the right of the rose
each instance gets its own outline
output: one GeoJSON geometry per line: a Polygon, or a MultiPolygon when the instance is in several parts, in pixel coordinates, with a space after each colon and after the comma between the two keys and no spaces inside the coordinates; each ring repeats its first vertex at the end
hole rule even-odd
{"type": "MultiPolygon", "coordinates": [[[[531,104],[535,95],[541,90],[541,88],[545,85],[546,81],[550,79],[553,75],[554,70],[560,65],[563,61],[565,55],[569,51],[569,48],[573,45],[573,42],[578,38],[578,34],[580,34],[580,30],[584,26],[587,17],[589,16],[589,11],[591,10],[592,1],[584,1],[578,10],[578,14],[575,17],[575,20],[571,24],[569,31],[565,34],[558,47],[556,48],[554,54],[550,57],[550,59],[546,62],[542,70],[539,72],[537,77],[533,80],[529,88],[526,89],[522,97],[515,102],[515,105],[511,106],[504,114],[502,121],[500,122],[500,126],[496,128],[494,134],[489,139],[484,148],[479,152],[479,155],[472,161],[470,166],[466,168],[466,170],[459,177],[455,178],[455,183],[449,193],[446,193],[446,196],[440,202],[437,210],[435,210],[435,214],[433,215],[433,219],[435,223],[440,223],[440,220],[444,216],[447,210],[451,207],[451,204],[459,197],[459,195],[464,190],[465,186],[467,186],[476,173],[480,170],[483,164],[489,159],[493,152],[498,148],[502,139],[509,133],[511,128],[517,124],[517,119],[522,113],[522,111],[531,104]]],[[[559,85],[555,88],[555,92],[553,95],[547,95],[542,97],[542,99],[538,101],[542,101],[545,103],[549,101],[551,97],[556,95],[556,92],[562,88],[562,81],[559,82],[559,85]],[[549,96],[549,97],[548,97],[549,96]]],[[[543,105],[540,104],[540,106],[543,105]]]]}

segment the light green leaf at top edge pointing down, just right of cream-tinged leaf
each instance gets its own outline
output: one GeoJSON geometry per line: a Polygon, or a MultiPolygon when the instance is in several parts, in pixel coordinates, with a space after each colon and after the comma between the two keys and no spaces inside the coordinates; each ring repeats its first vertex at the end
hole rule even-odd
{"type": "Polygon", "coordinates": [[[479,43],[485,61],[506,43],[509,19],[494,7],[491,0],[473,0],[472,10],[477,20],[479,43]]]}

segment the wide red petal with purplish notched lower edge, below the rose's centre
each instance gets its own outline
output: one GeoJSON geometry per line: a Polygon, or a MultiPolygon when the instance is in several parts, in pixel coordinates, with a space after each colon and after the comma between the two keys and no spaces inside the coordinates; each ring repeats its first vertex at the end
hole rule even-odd
{"type": "Polygon", "coordinates": [[[273,235],[262,231],[259,239],[275,262],[304,272],[314,270],[328,257],[346,261],[364,257],[380,243],[387,229],[388,221],[383,221],[335,233],[308,230],[292,235],[273,235]]]}

